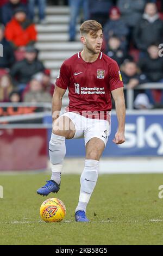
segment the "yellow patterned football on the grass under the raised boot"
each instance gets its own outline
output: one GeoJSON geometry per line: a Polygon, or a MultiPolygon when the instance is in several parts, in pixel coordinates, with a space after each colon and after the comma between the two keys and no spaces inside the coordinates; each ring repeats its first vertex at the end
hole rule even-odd
{"type": "Polygon", "coordinates": [[[65,205],[61,200],[57,198],[49,198],[41,204],[40,216],[45,222],[62,221],[65,215],[65,205]]]}

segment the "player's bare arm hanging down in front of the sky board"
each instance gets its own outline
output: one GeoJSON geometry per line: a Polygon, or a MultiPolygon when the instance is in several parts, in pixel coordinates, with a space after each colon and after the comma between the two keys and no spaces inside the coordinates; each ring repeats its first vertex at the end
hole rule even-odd
{"type": "Polygon", "coordinates": [[[123,142],[125,142],[124,125],[125,125],[125,115],[126,115],[126,106],[124,101],[123,87],[112,90],[111,93],[115,101],[116,115],[118,119],[118,130],[115,134],[115,138],[113,139],[113,142],[116,144],[122,144],[123,142]]]}

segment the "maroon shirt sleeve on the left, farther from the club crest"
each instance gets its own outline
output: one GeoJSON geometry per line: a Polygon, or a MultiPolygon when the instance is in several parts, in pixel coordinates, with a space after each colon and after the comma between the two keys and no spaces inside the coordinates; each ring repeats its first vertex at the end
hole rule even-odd
{"type": "Polygon", "coordinates": [[[60,68],[57,80],[55,81],[55,84],[58,87],[66,90],[69,83],[70,83],[70,70],[68,69],[68,66],[64,62],[61,65],[61,68],[60,68]]]}

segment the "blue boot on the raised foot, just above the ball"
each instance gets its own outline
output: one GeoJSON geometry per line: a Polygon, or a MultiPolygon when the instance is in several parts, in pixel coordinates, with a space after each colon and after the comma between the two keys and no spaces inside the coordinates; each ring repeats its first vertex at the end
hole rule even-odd
{"type": "Polygon", "coordinates": [[[47,183],[45,186],[40,187],[37,190],[37,194],[41,194],[41,196],[48,196],[49,193],[57,193],[60,189],[60,184],[58,185],[55,181],[53,180],[47,180],[47,183]]]}

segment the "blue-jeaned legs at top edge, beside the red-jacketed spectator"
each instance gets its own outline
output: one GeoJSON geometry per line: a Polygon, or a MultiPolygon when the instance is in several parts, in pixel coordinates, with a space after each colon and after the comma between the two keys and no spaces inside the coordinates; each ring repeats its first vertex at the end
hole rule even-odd
{"type": "Polygon", "coordinates": [[[35,4],[39,7],[39,18],[41,23],[45,23],[45,9],[46,9],[46,0],[28,0],[28,11],[29,17],[33,21],[34,19],[34,10],[35,4]]]}

